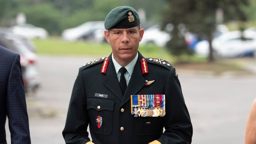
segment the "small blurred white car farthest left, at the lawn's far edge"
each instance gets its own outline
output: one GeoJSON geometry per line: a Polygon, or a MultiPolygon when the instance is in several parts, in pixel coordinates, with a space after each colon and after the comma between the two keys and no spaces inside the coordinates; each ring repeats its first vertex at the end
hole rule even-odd
{"type": "Polygon", "coordinates": [[[19,24],[11,27],[14,34],[24,36],[29,39],[40,38],[45,39],[48,37],[48,31],[44,28],[36,27],[32,24],[19,24]]]}

